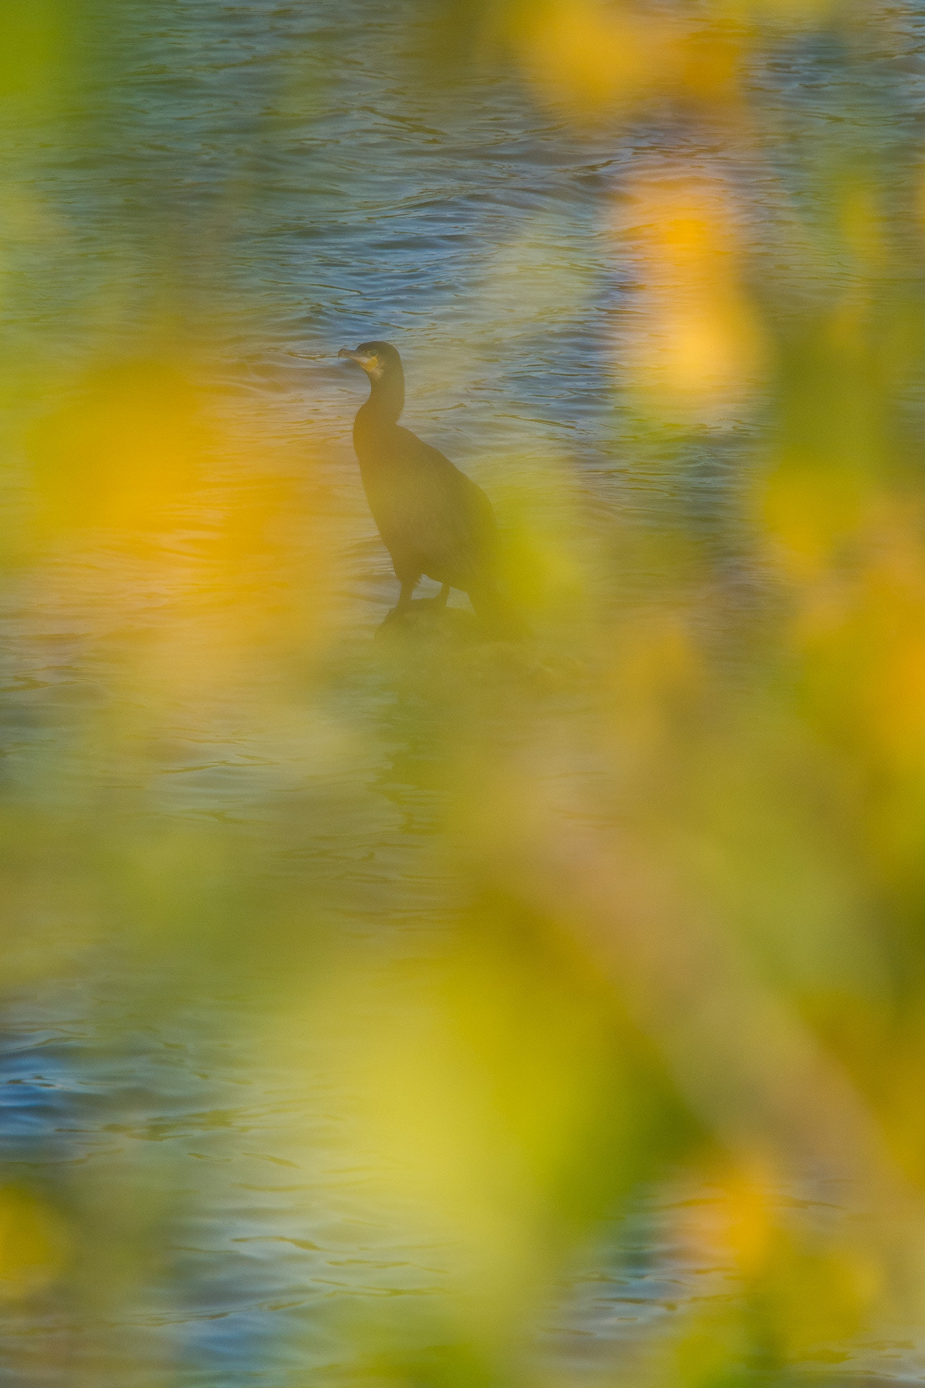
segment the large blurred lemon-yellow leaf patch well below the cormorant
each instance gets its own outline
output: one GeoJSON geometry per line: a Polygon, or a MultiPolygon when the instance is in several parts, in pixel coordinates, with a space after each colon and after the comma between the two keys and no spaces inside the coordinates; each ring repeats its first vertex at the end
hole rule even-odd
{"type": "Polygon", "coordinates": [[[369,1163],[368,1217],[393,1210],[410,1241],[449,1244],[450,1291],[464,1298],[450,1314],[503,1334],[546,1287],[564,1233],[550,1198],[586,1162],[601,1087],[608,1127],[626,1142],[606,1178],[614,1188],[621,1156],[635,1165],[639,1115],[614,1074],[600,997],[575,988],[567,962],[557,977],[528,938],[485,927],[429,966],[362,979],[354,962],[308,1029],[293,1019],[271,1044],[300,1053],[317,1033],[335,1038],[338,1087],[356,1097],[344,1156],[369,1163]]]}

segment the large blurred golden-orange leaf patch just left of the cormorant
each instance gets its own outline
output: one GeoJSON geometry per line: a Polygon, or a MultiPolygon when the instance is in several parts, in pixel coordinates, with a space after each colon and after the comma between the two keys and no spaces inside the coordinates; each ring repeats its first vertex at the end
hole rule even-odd
{"type": "Polygon", "coordinates": [[[39,540],[88,555],[68,601],[106,641],[132,633],[119,675],[168,702],[282,672],[339,615],[319,601],[338,559],[315,459],[204,373],[162,346],[104,362],[28,439],[39,540]]]}

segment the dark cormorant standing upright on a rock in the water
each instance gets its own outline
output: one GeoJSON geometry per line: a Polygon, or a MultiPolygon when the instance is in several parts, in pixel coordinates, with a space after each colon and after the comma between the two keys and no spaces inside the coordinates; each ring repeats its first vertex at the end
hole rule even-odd
{"type": "Polygon", "coordinates": [[[482,489],[449,458],[399,425],[404,409],[404,371],[392,343],[342,347],[369,378],[353,443],[369,509],[401,583],[389,616],[406,612],[422,575],[442,584],[433,601],[443,607],[450,589],[468,593],[472,607],[496,634],[526,634],[522,619],[497,589],[497,526],[482,489]]]}

